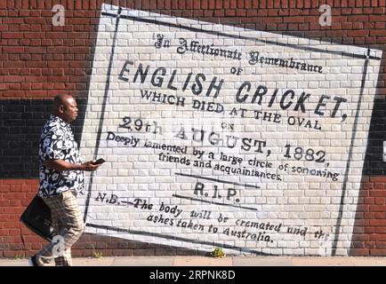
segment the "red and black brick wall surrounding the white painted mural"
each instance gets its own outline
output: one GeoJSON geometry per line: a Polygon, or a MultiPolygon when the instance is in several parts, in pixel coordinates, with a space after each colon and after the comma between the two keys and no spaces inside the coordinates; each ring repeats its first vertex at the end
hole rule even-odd
{"type": "MultiPolygon", "coordinates": [[[[142,11],[221,23],[288,36],[352,44],[383,51],[371,121],[352,256],[385,256],[385,1],[104,1],[142,11]],[[321,4],[333,11],[331,27],[318,23],[321,4]]],[[[3,1],[0,3],[0,256],[27,256],[43,242],[19,223],[36,193],[37,141],[51,99],[59,92],[82,106],[76,124],[81,140],[102,1],[3,1]],[[63,27],[52,25],[52,6],[66,11],[63,27]],[[24,238],[25,245],[22,243],[24,238]]],[[[76,256],[201,254],[141,241],[84,234],[76,256]]]]}

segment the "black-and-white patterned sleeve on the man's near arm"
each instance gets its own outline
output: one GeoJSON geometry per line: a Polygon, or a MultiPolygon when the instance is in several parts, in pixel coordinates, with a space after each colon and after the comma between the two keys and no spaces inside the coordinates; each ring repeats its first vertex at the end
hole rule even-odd
{"type": "Polygon", "coordinates": [[[61,131],[49,131],[43,140],[42,152],[45,160],[64,159],[63,135],[61,131]]]}

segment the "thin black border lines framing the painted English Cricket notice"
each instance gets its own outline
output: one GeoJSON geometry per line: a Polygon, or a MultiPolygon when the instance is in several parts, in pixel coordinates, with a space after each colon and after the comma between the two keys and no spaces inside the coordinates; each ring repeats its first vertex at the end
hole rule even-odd
{"type": "MultiPolygon", "coordinates": [[[[111,75],[112,59],[114,58],[114,51],[115,51],[116,40],[117,40],[117,28],[119,26],[119,20],[120,19],[140,21],[140,22],[145,22],[145,23],[154,24],[154,25],[163,25],[163,26],[172,27],[172,28],[187,29],[187,30],[192,31],[192,32],[207,33],[207,34],[211,34],[211,35],[215,35],[215,36],[228,36],[231,38],[252,40],[252,41],[260,42],[260,43],[276,44],[276,45],[291,47],[291,48],[302,50],[302,51],[331,53],[331,54],[335,54],[335,55],[338,54],[341,56],[350,57],[350,58],[354,58],[354,59],[365,59],[364,71],[362,74],[362,81],[361,81],[360,92],[359,92],[359,96],[358,96],[357,111],[355,114],[355,120],[354,120],[354,124],[353,124],[354,126],[353,126],[353,130],[352,130],[352,135],[351,135],[348,161],[346,162],[346,170],[345,170],[345,174],[344,174],[344,178],[343,178],[342,196],[341,196],[339,214],[338,214],[338,218],[337,218],[337,223],[335,225],[335,238],[334,238],[334,243],[333,243],[333,248],[332,248],[332,256],[335,256],[338,241],[339,241],[339,234],[341,231],[341,225],[342,225],[344,198],[346,196],[346,191],[347,191],[346,185],[347,185],[347,181],[349,178],[349,172],[350,172],[350,159],[352,156],[352,149],[353,149],[354,141],[356,138],[358,116],[359,116],[360,106],[361,106],[361,102],[362,102],[362,98],[363,98],[363,92],[364,92],[365,84],[366,84],[367,66],[368,66],[368,62],[370,59],[381,60],[381,58],[371,56],[370,55],[370,49],[367,50],[366,55],[365,54],[355,54],[355,53],[344,52],[344,51],[326,51],[326,50],[321,50],[321,49],[310,47],[310,46],[295,45],[295,44],[290,44],[290,43],[277,43],[274,41],[263,40],[263,39],[259,39],[259,38],[253,38],[250,36],[228,35],[227,33],[224,33],[224,32],[205,30],[202,28],[187,27],[187,26],[183,26],[181,24],[173,24],[173,23],[169,23],[169,22],[165,22],[165,21],[161,21],[161,20],[156,20],[156,19],[146,19],[146,18],[140,18],[140,17],[136,17],[136,16],[121,15],[121,12],[122,12],[121,7],[119,7],[117,9],[117,14],[109,13],[109,12],[101,12],[102,16],[117,18],[117,21],[116,21],[116,26],[115,26],[115,30],[114,30],[114,37],[113,37],[111,54],[110,54],[110,58],[109,58],[109,69],[108,69],[108,73],[107,73],[106,87],[105,87],[105,92],[104,92],[102,111],[101,111],[101,119],[100,119],[100,125],[99,125],[99,129],[98,129],[97,141],[96,141],[96,146],[95,146],[95,153],[93,156],[94,159],[96,159],[98,157],[99,141],[101,139],[101,130],[102,130],[102,125],[103,125],[104,112],[105,112],[106,102],[107,102],[108,94],[109,94],[109,81],[110,81],[110,75],[111,75]]],[[[92,179],[93,179],[93,172],[91,173],[90,184],[88,186],[88,192],[87,192],[87,197],[86,197],[86,203],[85,203],[85,209],[84,209],[84,223],[86,223],[88,208],[89,208],[90,199],[91,199],[92,179]]],[[[263,253],[261,251],[256,251],[256,250],[250,249],[250,248],[239,248],[239,247],[235,247],[235,246],[229,246],[226,244],[216,243],[214,241],[196,241],[196,240],[181,238],[181,237],[177,237],[177,236],[165,235],[165,234],[161,234],[161,233],[147,233],[147,232],[135,231],[135,230],[131,230],[131,229],[118,228],[118,227],[109,226],[109,225],[86,224],[86,226],[98,228],[98,229],[111,230],[111,231],[115,231],[117,233],[131,233],[131,234],[138,234],[138,235],[146,235],[146,236],[152,236],[152,237],[162,238],[162,239],[166,239],[166,240],[187,241],[187,242],[191,242],[191,243],[217,246],[217,247],[222,247],[222,248],[229,248],[229,249],[245,251],[246,253],[253,253],[255,255],[261,255],[261,256],[275,256],[275,254],[267,254],[267,253],[263,253]]]]}

